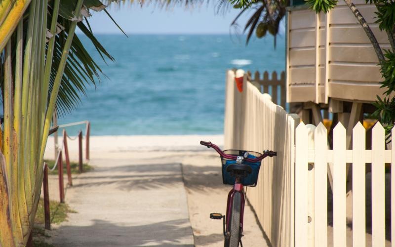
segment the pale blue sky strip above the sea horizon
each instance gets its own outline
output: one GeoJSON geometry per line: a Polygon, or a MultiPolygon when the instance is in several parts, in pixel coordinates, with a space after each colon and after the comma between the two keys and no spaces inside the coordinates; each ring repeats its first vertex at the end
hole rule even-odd
{"type": "MultiPolygon", "coordinates": [[[[161,9],[154,4],[122,4],[109,6],[107,10],[127,34],[229,34],[235,33],[235,27],[230,24],[239,10],[232,7],[223,14],[216,13],[213,3],[203,3],[194,9],[176,6],[171,9],[161,9]]],[[[120,34],[120,31],[104,11],[91,11],[88,21],[94,34],[120,34]]],[[[239,19],[242,27],[251,14],[244,14],[239,19]]]]}

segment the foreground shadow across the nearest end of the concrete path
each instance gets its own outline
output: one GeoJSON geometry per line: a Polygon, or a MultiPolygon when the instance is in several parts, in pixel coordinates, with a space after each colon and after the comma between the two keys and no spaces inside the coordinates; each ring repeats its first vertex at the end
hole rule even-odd
{"type": "Polygon", "coordinates": [[[112,246],[185,246],[193,247],[189,219],[163,221],[138,226],[120,226],[109,221],[92,220],[89,226],[61,226],[61,236],[54,236],[53,244],[58,247],[112,247],[112,246]],[[70,238],[69,236],[73,236],[70,238]]]}

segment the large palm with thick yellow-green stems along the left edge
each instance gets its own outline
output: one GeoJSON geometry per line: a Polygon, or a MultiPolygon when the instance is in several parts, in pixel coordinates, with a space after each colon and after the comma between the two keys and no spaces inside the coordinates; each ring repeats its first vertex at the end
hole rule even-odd
{"type": "Polygon", "coordinates": [[[99,0],[0,2],[0,246],[24,246],[29,238],[54,109],[72,110],[101,72],[75,35],[77,26],[112,59],[80,22],[89,9],[104,7],[99,0]]]}

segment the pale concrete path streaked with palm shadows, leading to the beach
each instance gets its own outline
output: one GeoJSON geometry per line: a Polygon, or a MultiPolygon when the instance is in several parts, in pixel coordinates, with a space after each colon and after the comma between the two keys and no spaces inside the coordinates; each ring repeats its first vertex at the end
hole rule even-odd
{"type": "Polygon", "coordinates": [[[77,213],[55,226],[53,244],[194,246],[181,164],[153,152],[110,156],[73,180],[66,201],[77,213]]]}

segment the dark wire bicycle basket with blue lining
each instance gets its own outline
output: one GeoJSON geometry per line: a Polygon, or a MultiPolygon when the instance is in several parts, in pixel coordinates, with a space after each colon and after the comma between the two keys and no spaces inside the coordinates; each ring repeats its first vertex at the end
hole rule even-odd
{"type": "MultiPolygon", "coordinates": [[[[224,150],[225,154],[228,155],[238,155],[242,156],[245,151],[243,150],[224,150]]],[[[257,152],[248,152],[248,158],[256,158],[261,156],[260,153],[257,152]]],[[[236,178],[231,176],[231,173],[226,170],[229,165],[236,164],[236,160],[229,160],[221,157],[222,161],[222,181],[224,184],[234,185],[236,182],[236,178]]],[[[252,168],[252,172],[248,174],[246,177],[241,178],[241,184],[244,186],[251,186],[254,187],[257,184],[259,168],[261,167],[261,161],[256,163],[251,162],[243,162],[245,165],[249,165],[252,168]]]]}

